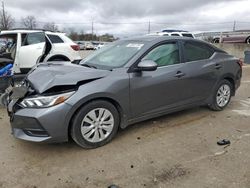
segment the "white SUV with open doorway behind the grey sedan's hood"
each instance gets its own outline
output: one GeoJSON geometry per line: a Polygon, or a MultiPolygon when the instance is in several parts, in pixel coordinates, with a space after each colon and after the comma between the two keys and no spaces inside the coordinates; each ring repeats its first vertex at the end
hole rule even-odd
{"type": "Polygon", "coordinates": [[[64,33],[8,30],[1,31],[0,39],[12,44],[0,55],[0,66],[13,63],[14,74],[26,74],[39,62],[81,59],[79,46],[64,33]]]}

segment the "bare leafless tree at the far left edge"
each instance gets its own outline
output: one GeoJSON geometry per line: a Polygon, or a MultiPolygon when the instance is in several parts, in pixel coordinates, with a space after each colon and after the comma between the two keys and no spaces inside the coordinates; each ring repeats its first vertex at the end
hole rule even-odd
{"type": "Polygon", "coordinates": [[[0,29],[8,30],[14,26],[14,23],[14,18],[5,10],[4,2],[2,2],[2,8],[0,10],[0,29]]]}

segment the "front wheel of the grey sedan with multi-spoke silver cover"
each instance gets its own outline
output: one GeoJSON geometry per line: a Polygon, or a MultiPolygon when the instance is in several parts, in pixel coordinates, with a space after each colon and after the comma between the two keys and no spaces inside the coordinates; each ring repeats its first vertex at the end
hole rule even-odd
{"type": "Polygon", "coordinates": [[[75,114],[71,137],[82,148],[97,148],[114,138],[119,124],[116,107],[107,101],[96,100],[87,103],[75,114]]]}

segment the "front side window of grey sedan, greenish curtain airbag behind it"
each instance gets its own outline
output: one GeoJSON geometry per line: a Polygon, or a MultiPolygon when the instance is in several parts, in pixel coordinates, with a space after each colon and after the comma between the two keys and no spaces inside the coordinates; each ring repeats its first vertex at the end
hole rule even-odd
{"type": "Polygon", "coordinates": [[[143,60],[152,60],[159,67],[180,63],[177,43],[163,44],[150,51],[143,60]]]}

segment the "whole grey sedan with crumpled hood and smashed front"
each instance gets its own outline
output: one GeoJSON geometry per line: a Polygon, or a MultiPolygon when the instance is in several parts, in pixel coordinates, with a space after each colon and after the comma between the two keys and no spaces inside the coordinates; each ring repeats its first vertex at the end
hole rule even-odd
{"type": "Polygon", "coordinates": [[[9,92],[13,135],[83,148],[107,144],[119,128],[208,105],[223,110],[240,86],[239,59],[202,41],[146,36],[103,47],[79,65],[34,67],[9,92]]]}

